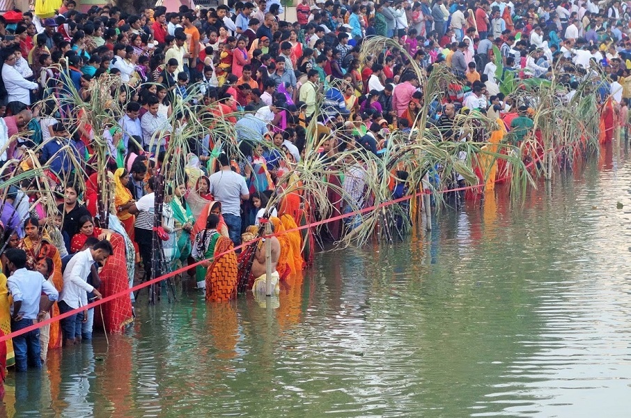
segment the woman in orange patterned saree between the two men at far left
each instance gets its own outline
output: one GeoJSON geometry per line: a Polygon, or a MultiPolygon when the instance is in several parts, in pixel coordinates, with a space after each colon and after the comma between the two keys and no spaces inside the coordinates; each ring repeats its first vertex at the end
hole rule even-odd
{"type": "MultiPolygon", "coordinates": [[[[35,270],[39,261],[50,258],[53,261],[53,272],[50,275],[50,281],[58,292],[63,288],[63,277],[61,275],[61,256],[59,250],[53,244],[48,233],[42,229],[39,220],[33,217],[26,219],[24,222],[24,232],[26,236],[18,244],[18,248],[26,251],[26,268],[35,270]]],[[[50,309],[51,318],[59,316],[59,307],[55,302],[50,309]]],[[[59,322],[50,324],[50,334],[48,348],[61,347],[61,328],[59,322]]]]}

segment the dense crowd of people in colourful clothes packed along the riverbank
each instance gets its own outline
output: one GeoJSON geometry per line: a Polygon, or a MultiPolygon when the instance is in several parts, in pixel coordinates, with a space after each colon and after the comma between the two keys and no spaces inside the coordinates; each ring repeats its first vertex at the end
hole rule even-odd
{"type": "MultiPolygon", "coordinates": [[[[55,9],[0,17],[0,161],[4,178],[23,178],[4,191],[0,209],[4,334],[130,288],[137,270],[150,277],[155,235],[173,270],[239,245],[267,218],[276,232],[304,224],[291,173],[313,157],[305,155],[309,141],[320,144],[317,158],[343,167],[335,180],[343,192],[331,199],[348,213],[370,204],[366,170],[361,157],[339,162],[336,155],[360,149],[379,157],[391,132],[425,128],[424,107],[443,141],[488,137],[458,126],[456,116],[472,111],[504,123],[504,141],[532,134],[528,104],[502,91],[508,79],[550,79],[554,69],[566,77],[559,98],[570,102],[579,82],[597,74],[599,100],[613,100],[618,123],[627,124],[631,40],[627,3],[619,0],[302,0],[295,22],[283,20],[278,0],[135,15],[115,6],[80,12],[74,0],[55,9]],[[399,47],[362,50],[371,36],[399,47]],[[424,76],[438,68],[455,82],[442,97],[426,98],[424,76]],[[95,116],[68,98],[90,102],[112,79],[118,88],[107,116],[116,123],[94,132],[88,121],[95,116]],[[233,124],[239,153],[215,153],[212,130],[190,138],[185,176],[165,187],[157,179],[183,107],[233,124]],[[104,167],[94,167],[95,137],[108,144],[104,167]],[[29,176],[36,167],[43,173],[29,176]],[[111,208],[102,208],[102,171],[111,208]],[[164,195],[158,215],[157,189],[164,195]],[[270,206],[280,190],[284,198],[270,206]]],[[[394,185],[394,196],[405,193],[405,182],[394,185]]],[[[358,222],[329,225],[326,238],[335,241],[358,222]]],[[[302,270],[305,239],[272,238],[276,282],[302,270]]],[[[265,275],[262,252],[251,258],[255,288],[265,275]]],[[[211,266],[190,269],[199,288],[211,266]]],[[[132,302],[133,295],[104,305],[108,332],[132,321],[132,302]]],[[[47,350],[90,340],[93,316],[81,311],[7,341],[8,364],[40,367],[47,350]]]]}

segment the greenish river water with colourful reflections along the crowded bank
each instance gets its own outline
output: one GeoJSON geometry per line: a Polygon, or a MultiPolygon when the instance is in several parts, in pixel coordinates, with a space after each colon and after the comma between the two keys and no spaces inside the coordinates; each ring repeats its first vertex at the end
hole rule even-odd
{"type": "MultiPolygon", "coordinates": [[[[279,307],[189,284],[8,378],[8,416],[628,417],[631,162],[319,254],[279,307]],[[623,208],[616,204],[623,203],[623,208]]],[[[97,318],[98,320],[98,315],[97,318]]]]}

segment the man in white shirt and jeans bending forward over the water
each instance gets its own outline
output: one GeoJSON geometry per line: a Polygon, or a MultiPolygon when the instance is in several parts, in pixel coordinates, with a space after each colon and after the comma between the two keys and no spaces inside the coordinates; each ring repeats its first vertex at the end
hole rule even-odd
{"type": "MultiPolygon", "coordinates": [[[[62,314],[73,309],[84,307],[88,304],[87,292],[93,292],[97,299],[102,295],[93,286],[88,284],[88,274],[94,263],[104,264],[107,258],[114,252],[107,240],[97,242],[94,247],[79,251],[70,258],[63,272],[63,288],[59,294],[59,311],[62,314]]],[[[85,312],[73,314],[62,319],[61,332],[66,346],[81,343],[81,323],[85,312]]]]}

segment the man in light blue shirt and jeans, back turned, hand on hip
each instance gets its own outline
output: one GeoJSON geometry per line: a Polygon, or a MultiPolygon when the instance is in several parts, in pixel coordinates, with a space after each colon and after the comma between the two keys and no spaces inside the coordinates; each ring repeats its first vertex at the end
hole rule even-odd
{"type": "MultiPolygon", "coordinates": [[[[41,273],[26,270],[26,252],[23,249],[7,249],[1,258],[3,270],[8,276],[7,286],[13,296],[10,314],[11,332],[15,332],[33,325],[35,320],[43,320],[59,293],[41,273]],[[42,292],[48,296],[48,302],[40,309],[42,292]]],[[[26,371],[29,362],[37,369],[42,367],[40,330],[14,336],[13,350],[16,371],[26,371]]]]}

